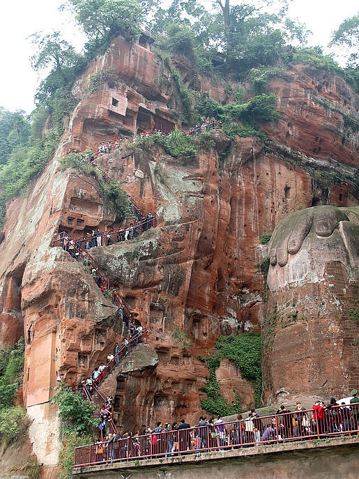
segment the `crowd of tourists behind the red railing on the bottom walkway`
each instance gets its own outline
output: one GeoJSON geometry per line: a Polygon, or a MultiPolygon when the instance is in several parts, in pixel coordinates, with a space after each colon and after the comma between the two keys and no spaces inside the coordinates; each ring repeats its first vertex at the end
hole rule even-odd
{"type": "MultiPolygon", "coordinates": [[[[303,441],[330,434],[357,434],[359,398],[356,390],[352,390],[351,395],[350,404],[338,404],[332,398],[327,405],[316,401],[312,409],[307,410],[298,401],[293,411],[280,406],[275,415],[260,417],[257,410],[252,409],[248,418],[238,414],[236,420],[226,423],[221,416],[208,419],[201,416],[192,427],[185,419],[163,425],[158,421],[155,427],[148,426],[142,431],[100,434],[100,442],[86,448],[94,448],[93,462],[102,462],[303,441]]],[[[78,457],[77,464],[82,460],[78,457]]]]}

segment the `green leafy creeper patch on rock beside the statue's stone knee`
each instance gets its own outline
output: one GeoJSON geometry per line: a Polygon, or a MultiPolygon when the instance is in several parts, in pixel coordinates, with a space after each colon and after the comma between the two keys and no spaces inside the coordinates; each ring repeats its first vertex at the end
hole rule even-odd
{"type": "MultiPolygon", "coordinates": [[[[204,360],[203,357],[200,358],[204,360]]],[[[261,400],[261,335],[259,333],[242,333],[238,336],[220,336],[213,349],[212,356],[206,358],[210,378],[204,386],[206,399],[201,407],[211,414],[229,414],[240,412],[240,397],[235,391],[236,399],[229,404],[222,396],[220,384],[215,377],[215,370],[220,367],[222,359],[229,359],[242,375],[252,383],[254,399],[257,406],[261,400]]]]}

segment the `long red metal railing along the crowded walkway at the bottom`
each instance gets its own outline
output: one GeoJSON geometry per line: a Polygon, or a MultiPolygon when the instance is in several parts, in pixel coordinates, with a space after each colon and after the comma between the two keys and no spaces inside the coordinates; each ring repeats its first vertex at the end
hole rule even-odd
{"type": "Polygon", "coordinates": [[[359,404],[350,404],[325,409],[323,417],[310,409],[211,426],[152,432],[143,436],[112,438],[107,442],[75,448],[75,467],[349,435],[358,433],[358,419],[359,404]]]}

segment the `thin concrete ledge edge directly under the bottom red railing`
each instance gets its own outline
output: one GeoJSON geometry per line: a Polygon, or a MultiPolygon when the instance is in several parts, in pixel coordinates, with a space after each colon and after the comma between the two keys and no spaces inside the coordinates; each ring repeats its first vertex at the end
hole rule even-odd
{"type": "MultiPolygon", "coordinates": [[[[92,474],[100,471],[107,473],[121,471],[130,473],[139,469],[151,469],[160,466],[162,470],[170,469],[172,466],[184,466],[185,464],[204,464],[211,461],[223,461],[233,459],[235,462],[243,461],[246,457],[264,457],[266,455],[278,455],[282,453],[300,453],[301,451],[318,450],[325,448],[337,448],[338,446],[351,446],[357,448],[359,436],[341,436],[328,439],[312,439],[311,441],[293,441],[289,443],[270,444],[268,446],[253,446],[251,448],[240,448],[234,450],[217,450],[208,453],[188,454],[175,457],[159,457],[158,459],[139,459],[125,462],[107,462],[96,466],[75,467],[72,474],[92,474]]],[[[334,452],[334,451],[333,451],[334,452]]],[[[100,476],[102,477],[102,475],[100,476]]]]}

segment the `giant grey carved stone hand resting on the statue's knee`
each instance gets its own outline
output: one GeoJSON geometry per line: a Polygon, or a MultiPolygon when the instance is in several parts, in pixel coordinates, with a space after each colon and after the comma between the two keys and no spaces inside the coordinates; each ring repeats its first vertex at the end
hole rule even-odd
{"type": "Polygon", "coordinates": [[[318,282],[325,265],[339,261],[349,280],[358,278],[359,206],[316,206],[293,213],[275,228],[269,243],[268,287],[318,282]]]}

